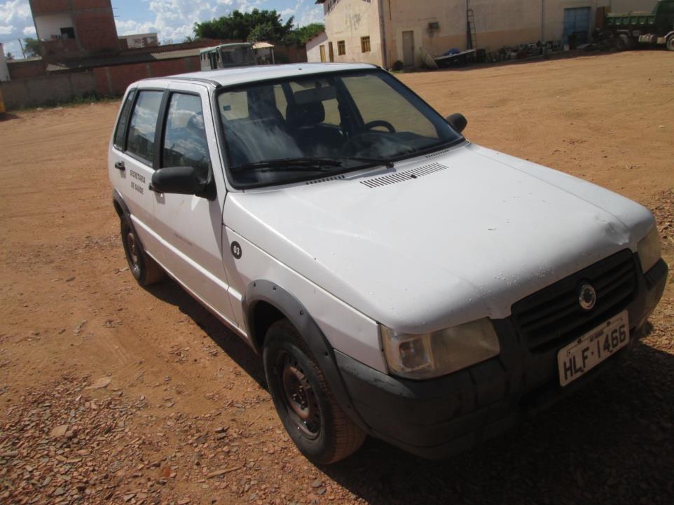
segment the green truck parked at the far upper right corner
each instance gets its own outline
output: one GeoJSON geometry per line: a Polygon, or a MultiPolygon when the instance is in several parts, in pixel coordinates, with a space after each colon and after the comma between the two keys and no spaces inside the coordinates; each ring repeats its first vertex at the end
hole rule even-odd
{"type": "Polygon", "coordinates": [[[674,51],[674,0],[658,0],[650,13],[607,14],[605,32],[620,50],[648,44],[665,45],[674,51]]]}

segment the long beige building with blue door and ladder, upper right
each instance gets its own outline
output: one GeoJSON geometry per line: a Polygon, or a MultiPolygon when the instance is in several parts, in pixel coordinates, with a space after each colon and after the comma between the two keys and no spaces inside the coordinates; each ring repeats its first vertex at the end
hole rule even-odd
{"type": "Polygon", "coordinates": [[[652,11],[655,1],[317,0],[323,4],[325,33],[308,41],[307,55],[310,62],[420,67],[420,48],[431,55],[471,45],[491,52],[520,43],[565,43],[571,34],[582,43],[605,11],[652,11]]]}

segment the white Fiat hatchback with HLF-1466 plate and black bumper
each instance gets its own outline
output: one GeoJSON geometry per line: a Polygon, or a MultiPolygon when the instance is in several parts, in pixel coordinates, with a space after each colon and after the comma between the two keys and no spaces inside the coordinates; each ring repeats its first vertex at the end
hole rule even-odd
{"type": "Polygon", "coordinates": [[[366,434],[425,457],[493,436],[626,354],[662,295],[647,209],[465,125],[366,64],[126,92],[109,175],[131,272],[262,354],[313,462],[366,434]]]}

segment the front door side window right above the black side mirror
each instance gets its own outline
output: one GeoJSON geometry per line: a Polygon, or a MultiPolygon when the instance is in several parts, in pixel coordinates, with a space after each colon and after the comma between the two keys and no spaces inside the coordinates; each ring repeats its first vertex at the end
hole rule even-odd
{"type": "Polygon", "coordinates": [[[162,167],[194,167],[206,177],[208,153],[201,97],[173,93],[166,116],[162,167]]]}

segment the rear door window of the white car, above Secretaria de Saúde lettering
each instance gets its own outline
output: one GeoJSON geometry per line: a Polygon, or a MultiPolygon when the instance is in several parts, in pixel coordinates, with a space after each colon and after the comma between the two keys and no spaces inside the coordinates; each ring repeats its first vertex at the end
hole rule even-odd
{"type": "Polygon", "coordinates": [[[129,123],[126,150],[146,160],[149,165],[154,158],[154,138],[163,94],[163,91],[139,91],[129,123]]]}

